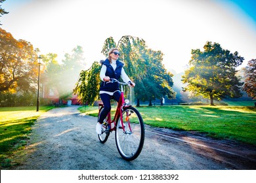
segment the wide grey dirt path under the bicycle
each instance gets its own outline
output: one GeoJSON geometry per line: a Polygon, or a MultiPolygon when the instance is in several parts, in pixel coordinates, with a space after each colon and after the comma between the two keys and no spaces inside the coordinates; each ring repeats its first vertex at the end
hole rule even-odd
{"type": "Polygon", "coordinates": [[[33,125],[28,146],[16,155],[15,169],[36,170],[203,170],[255,169],[255,147],[214,141],[196,133],[146,126],[144,148],[135,161],[119,156],[114,133],[101,144],[96,118],[77,107],[54,108],[33,125]]]}

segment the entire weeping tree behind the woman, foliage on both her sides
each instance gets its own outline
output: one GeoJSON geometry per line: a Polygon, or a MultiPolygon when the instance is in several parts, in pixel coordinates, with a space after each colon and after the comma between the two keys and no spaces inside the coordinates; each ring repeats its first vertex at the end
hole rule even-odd
{"type": "MultiPolygon", "coordinates": [[[[143,39],[129,35],[121,37],[117,44],[112,37],[106,39],[102,54],[107,56],[108,50],[113,47],[119,49],[121,53],[119,59],[125,63],[125,72],[136,83],[134,92],[137,97],[137,106],[140,105],[140,100],[150,101],[149,105],[152,105],[153,99],[162,99],[164,96],[175,97],[176,93],[171,88],[173,75],[164,68],[161,51],[149,49],[143,39]]],[[[74,93],[82,103],[93,105],[97,99],[100,68],[101,65],[95,62],[90,69],[80,73],[74,93]]],[[[125,90],[125,95],[129,92],[125,90]]]]}

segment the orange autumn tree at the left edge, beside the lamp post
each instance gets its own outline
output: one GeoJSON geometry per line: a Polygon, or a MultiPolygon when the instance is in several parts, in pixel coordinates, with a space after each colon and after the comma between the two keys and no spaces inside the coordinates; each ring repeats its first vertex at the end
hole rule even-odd
{"type": "Polygon", "coordinates": [[[35,90],[38,63],[33,45],[0,28],[0,92],[35,90]]]}

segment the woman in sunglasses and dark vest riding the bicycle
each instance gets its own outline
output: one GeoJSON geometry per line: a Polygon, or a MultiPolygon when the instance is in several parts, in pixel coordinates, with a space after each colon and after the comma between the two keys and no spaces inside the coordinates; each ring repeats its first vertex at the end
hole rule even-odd
{"type": "MultiPolygon", "coordinates": [[[[108,58],[105,61],[100,61],[102,67],[100,70],[100,99],[104,104],[104,109],[100,113],[100,118],[96,124],[96,133],[101,134],[101,128],[103,120],[111,110],[110,99],[115,99],[117,102],[121,96],[119,90],[119,84],[117,82],[109,82],[110,78],[119,80],[121,77],[124,82],[131,82],[130,78],[126,75],[123,70],[124,63],[119,61],[120,54],[117,48],[110,48],[108,51],[108,58]]],[[[131,87],[135,86],[135,83],[131,82],[131,87]]]]}

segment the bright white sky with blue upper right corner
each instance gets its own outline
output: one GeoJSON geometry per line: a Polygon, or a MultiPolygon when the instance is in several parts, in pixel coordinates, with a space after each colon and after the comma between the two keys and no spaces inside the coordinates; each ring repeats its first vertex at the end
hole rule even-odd
{"type": "Polygon", "coordinates": [[[139,37],[161,50],[165,68],[176,74],[207,41],[238,51],[242,67],[256,59],[255,7],[255,0],[6,0],[9,14],[0,21],[14,39],[31,42],[39,54],[58,54],[59,61],[82,46],[87,68],[105,58],[108,37],[139,37]]]}

